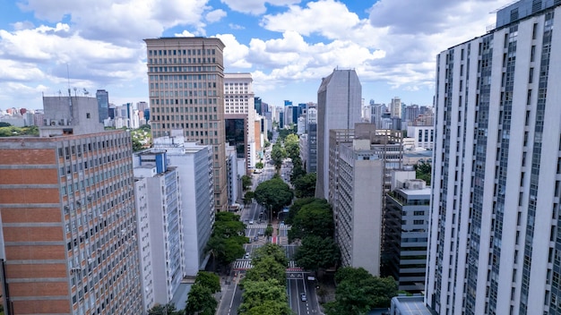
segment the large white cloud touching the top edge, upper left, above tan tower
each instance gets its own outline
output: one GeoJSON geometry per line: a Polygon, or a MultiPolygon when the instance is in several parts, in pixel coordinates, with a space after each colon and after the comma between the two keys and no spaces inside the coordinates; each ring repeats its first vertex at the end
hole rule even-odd
{"type": "MultiPolygon", "coordinates": [[[[28,0],[19,4],[43,21],[65,21],[83,38],[134,46],[138,38],[161,36],[164,30],[193,26],[204,34],[207,0],[28,0]]],[[[214,13],[216,14],[216,13],[214,13]]],[[[212,14],[211,14],[212,16],[212,14]]]]}

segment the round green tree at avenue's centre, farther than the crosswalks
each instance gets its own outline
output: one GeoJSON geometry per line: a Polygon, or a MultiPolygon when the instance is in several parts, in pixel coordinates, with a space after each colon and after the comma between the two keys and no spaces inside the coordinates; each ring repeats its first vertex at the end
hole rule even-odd
{"type": "Polygon", "coordinates": [[[282,207],[288,206],[293,196],[289,184],[284,183],[278,175],[260,183],[255,189],[255,200],[267,209],[272,207],[275,213],[282,209],[282,207]]]}

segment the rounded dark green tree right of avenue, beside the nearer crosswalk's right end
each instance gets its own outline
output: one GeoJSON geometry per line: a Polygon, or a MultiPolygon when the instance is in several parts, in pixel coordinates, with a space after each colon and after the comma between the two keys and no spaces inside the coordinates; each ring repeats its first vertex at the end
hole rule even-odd
{"type": "Polygon", "coordinates": [[[299,267],[318,270],[335,266],[339,257],[339,247],[332,237],[307,235],[302,240],[302,246],[298,247],[294,260],[299,267]]]}

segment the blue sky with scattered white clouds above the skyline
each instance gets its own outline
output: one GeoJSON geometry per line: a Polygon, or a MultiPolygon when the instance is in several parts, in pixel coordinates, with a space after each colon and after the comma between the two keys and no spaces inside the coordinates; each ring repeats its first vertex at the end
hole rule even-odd
{"type": "Polygon", "coordinates": [[[42,96],[148,101],[144,38],[220,38],[225,72],[270,105],[317,102],[355,69],[365,104],[432,106],[436,54],[485,34],[512,0],[0,0],[0,110],[42,96]]]}

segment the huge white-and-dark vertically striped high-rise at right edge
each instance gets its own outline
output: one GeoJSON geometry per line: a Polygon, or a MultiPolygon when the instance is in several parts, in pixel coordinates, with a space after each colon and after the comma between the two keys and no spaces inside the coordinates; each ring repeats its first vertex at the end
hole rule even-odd
{"type": "Polygon", "coordinates": [[[559,4],[511,4],[436,56],[427,305],[440,314],[561,312],[559,4]]]}

